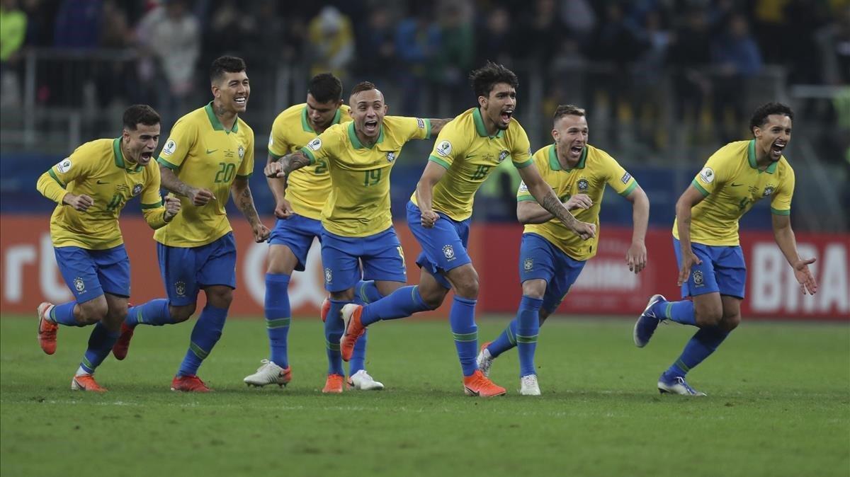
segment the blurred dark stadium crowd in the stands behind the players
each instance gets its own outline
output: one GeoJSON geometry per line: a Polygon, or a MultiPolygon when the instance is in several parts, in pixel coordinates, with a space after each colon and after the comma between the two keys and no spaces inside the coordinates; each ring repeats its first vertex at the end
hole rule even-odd
{"type": "MultiPolygon", "coordinates": [[[[820,207],[796,227],[847,229],[834,216],[850,194],[806,189],[850,177],[850,0],[2,0],[4,202],[31,185],[8,179],[23,174],[15,158],[116,135],[127,104],[153,105],[167,132],[209,100],[207,66],[225,53],[246,59],[259,147],[315,73],[377,83],[390,114],[450,117],[475,104],[468,71],[501,62],[520,77],[534,149],[551,140],[558,104],[587,108],[591,142],[647,168],[634,175],[661,221],[672,210],[656,205],[672,209],[714,149],[749,137],[752,109],[785,101],[797,113],[791,162],[816,169],[798,174],[811,181],[798,182],[800,200],[820,207]]],[[[394,182],[407,180],[397,168],[394,182]]],[[[515,181],[491,177],[490,218],[511,216],[515,181]]]]}

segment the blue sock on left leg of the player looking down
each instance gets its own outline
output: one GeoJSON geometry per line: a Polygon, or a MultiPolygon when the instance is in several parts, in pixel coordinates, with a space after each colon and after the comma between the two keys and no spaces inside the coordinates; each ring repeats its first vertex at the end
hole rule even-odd
{"type": "Polygon", "coordinates": [[[292,311],[289,308],[289,275],[266,273],[266,333],[269,334],[269,360],[280,368],[289,367],[288,341],[292,311]]]}

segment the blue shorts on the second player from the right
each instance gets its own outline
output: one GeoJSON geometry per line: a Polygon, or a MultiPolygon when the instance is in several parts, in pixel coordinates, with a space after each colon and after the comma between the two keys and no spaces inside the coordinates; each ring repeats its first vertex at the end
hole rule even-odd
{"type": "Polygon", "coordinates": [[[542,309],[558,309],[587,261],[575,260],[536,233],[524,233],[519,246],[519,282],[546,280],[542,309]]]}

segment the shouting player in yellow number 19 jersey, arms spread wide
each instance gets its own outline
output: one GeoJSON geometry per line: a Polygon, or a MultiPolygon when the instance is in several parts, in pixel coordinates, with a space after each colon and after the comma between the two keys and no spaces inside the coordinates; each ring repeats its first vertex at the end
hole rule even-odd
{"type": "Polygon", "coordinates": [[[362,276],[375,281],[380,295],[389,295],[407,280],[389,210],[389,172],[405,143],[428,139],[449,121],[388,116],[383,94],[368,81],[352,89],[349,104],[354,121],[327,128],[302,149],[265,167],[266,177],[287,177],[322,163],[331,172],[331,194],[321,213],[321,260],[325,289],[331,293],[325,321],[326,393],[343,392],[340,311],[354,301],[355,284],[362,276]]]}

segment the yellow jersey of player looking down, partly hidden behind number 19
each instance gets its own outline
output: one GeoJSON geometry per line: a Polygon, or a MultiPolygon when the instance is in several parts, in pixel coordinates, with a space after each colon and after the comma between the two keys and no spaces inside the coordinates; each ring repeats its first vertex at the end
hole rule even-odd
{"type": "MultiPolygon", "coordinates": [[[[337,109],[332,124],[351,121],[347,105],[337,109]]],[[[303,148],[317,136],[307,118],[307,104],[296,104],[275,118],[269,135],[269,154],[280,158],[303,148]]],[[[319,220],[321,209],[331,194],[331,174],[322,160],[312,166],[302,167],[286,180],[286,200],[299,216],[319,220]]]]}

